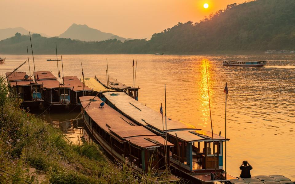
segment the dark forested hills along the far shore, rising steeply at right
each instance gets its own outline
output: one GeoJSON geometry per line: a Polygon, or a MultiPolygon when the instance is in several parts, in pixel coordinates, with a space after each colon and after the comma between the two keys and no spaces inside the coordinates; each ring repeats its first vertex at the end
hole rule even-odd
{"type": "MultiPolygon", "coordinates": [[[[36,54],[262,52],[295,50],[295,1],[257,0],[228,5],[198,23],[188,21],[156,33],[151,40],[82,42],[63,38],[32,38],[36,54]]],[[[29,37],[0,41],[0,52],[25,54],[29,37]]]]}

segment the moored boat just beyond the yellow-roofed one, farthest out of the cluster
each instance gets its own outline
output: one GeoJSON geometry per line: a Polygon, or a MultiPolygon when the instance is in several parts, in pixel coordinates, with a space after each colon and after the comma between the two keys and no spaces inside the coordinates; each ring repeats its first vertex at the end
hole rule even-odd
{"type": "Polygon", "coordinates": [[[125,84],[122,84],[121,82],[109,77],[109,87],[107,84],[107,76],[106,75],[95,75],[95,79],[100,82],[104,87],[124,92],[128,94],[130,97],[138,100],[138,90],[140,89],[139,87],[131,87],[131,86],[126,86],[125,84]]]}

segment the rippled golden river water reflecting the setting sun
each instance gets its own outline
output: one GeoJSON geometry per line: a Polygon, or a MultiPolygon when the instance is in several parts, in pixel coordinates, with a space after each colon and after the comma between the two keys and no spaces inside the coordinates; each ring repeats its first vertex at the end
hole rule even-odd
{"type": "MultiPolygon", "coordinates": [[[[140,87],[139,102],[159,111],[164,107],[164,84],[167,90],[167,116],[182,120],[204,130],[210,130],[207,92],[208,70],[213,131],[225,134],[225,93],[227,100],[227,172],[240,174],[239,166],[247,160],[252,175],[282,174],[295,179],[295,55],[64,55],[64,75],[81,78],[106,73],[132,86],[132,60],[136,59],[136,86],[140,87]],[[222,60],[266,60],[265,67],[222,66],[222,60]]],[[[12,71],[27,56],[6,56],[0,72],[12,71]]],[[[52,71],[57,76],[54,55],[36,55],[36,71],[52,71]]],[[[30,56],[31,73],[33,59],[30,56]]],[[[61,69],[61,62],[59,62],[61,69]]],[[[135,69],[135,68],[134,68],[135,69]]],[[[28,64],[19,71],[29,73],[28,64]]],[[[62,74],[62,72],[61,72],[62,74]]],[[[163,108],[164,109],[164,108],[163,108]]],[[[36,115],[39,115],[37,112],[36,115]]],[[[42,119],[61,128],[77,143],[77,135],[84,131],[83,122],[71,124],[77,112],[45,112],[42,119]]]]}

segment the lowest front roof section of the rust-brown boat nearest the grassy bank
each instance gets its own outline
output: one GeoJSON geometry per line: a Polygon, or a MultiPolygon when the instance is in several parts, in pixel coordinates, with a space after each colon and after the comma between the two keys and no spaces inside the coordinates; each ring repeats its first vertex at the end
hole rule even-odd
{"type": "MultiPolygon", "coordinates": [[[[140,148],[149,148],[155,146],[163,146],[164,139],[161,136],[136,136],[126,138],[130,143],[139,146],[140,148]]],[[[174,146],[172,143],[167,141],[167,146],[174,146]]]]}

